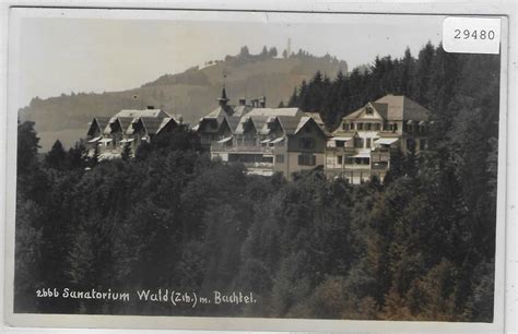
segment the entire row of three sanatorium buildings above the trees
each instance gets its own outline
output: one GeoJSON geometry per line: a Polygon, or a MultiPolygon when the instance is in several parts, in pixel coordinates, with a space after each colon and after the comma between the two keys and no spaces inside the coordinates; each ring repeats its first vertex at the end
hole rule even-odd
{"type": "MultiPolygon", "coordinates": [[[[333,132],[318,112],[298,108],[267,108],[266,98],[229,105],[225,88],[214,110],[192,130],[212,158],[240,162],[249,174],[271,176],[321,168],[329,178],[351,183],[384,180],[391,156],[427,148],[429,111],[401,95],[386,95],[342,118],[333,132]]],[[[180,127],[181,118],[164,110],[121,110],[111,118],[95,117],[86,142],[105,158],[134,153],[142,142],[180,127]]]]}

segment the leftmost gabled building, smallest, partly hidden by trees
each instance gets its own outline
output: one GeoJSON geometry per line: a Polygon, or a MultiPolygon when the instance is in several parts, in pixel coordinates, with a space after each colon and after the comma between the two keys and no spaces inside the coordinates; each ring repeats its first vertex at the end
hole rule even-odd
{"type": "Polygon", "coordinates": [[[141,143],[151,143],[180,123],[180,117],[172,117],[152,106],[144,110],[120,110],[113,117],[94,117],[86,143],[91,154],[97,147],[102,159],[119,157],[126,145],[134,154],[141,143]]]}

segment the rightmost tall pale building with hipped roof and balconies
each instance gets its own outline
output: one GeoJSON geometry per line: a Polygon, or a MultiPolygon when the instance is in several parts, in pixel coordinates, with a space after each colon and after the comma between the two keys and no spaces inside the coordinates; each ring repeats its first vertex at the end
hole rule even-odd
{"type": "Polygon", "coordinates": [[[427,148],[429,111],[405,96],[386,95],[345,116],[326,148],[326,175],[351,183],[384,180],[391,156],[427,148]]]}

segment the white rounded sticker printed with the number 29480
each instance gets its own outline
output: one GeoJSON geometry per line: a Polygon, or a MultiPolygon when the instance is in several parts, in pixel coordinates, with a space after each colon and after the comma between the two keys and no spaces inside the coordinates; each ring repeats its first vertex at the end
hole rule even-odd
{"type": "Polygon", "coordinates": [[[446,17],[443,22],[443,48],[447,52],[499,53],[501,19],[446,17]]]}

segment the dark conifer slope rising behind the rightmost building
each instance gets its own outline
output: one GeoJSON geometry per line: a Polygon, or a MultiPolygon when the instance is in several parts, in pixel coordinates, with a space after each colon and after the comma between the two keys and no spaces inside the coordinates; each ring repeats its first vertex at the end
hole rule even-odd
{"type": "Polygon", "coordinates": [[[491,138],[497,131],[498,98],[492,94],[497,94],[498,86],[499,56],[448,53],[428,43],[417,57],[409,49],[401,59],[378,57],[367,71],[354,69],[337,77],[316,73],[293,92],[289,106],[318,110],[333,129],[367,102],[386,94],[405,95],[434,114],[443,123],[440,134],[456,118],[466,117],[486,123],[491,138]]]}

